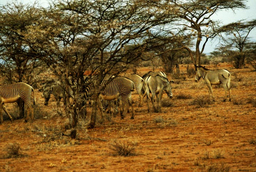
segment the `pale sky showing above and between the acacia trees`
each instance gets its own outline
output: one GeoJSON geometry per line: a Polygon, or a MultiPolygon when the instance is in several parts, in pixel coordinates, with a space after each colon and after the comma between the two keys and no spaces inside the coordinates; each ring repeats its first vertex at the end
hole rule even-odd
{"type": "MultiPolygon", "coordinates": [[[[12,1],[22,2],[23,4],[34,3],[35,0],[0,0],[0,5],[4,5],[6,3],[10,3],[12,1]]],[[[48,0],[37,0],[42,7],[47,7],[48,0]]],[[[219,11],[213,15],[214,20],[220,20],[223,24],[232,23],[238,20],[253,20],[256,19],[256,0],[248,0],[246,3],[249,9],[245,10],[236,10],[235,13],[231,10],[229,11],[219,11]]],[[[251,37],[252,41],[256,41],[256,28],[250,32],[249,37],[251,37]]],[[[209,53],[214,51],[214,48],[218,47],[218,41],[210,42],[208,41],[206,47],[204,49],[204,53],[209,53]]]]}

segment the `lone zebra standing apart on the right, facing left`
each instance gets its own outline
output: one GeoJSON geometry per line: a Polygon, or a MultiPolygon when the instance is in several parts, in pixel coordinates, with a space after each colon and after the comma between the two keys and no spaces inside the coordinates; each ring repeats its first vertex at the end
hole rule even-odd
{"type": "Polygon", "coordinates": [[[225,102],[228,95],[227,91],[229,91],[229,101],[231,101],[231,94],[230,94],[230,79],[231,74],[226,69],[220,69],[216,71],[212,71],[206,69],[205,66],[196,65],[196,76],[195,81],[198,82],[200,78],[204,79],[204,82],[209,88],[209,97],[212,95],[212,99],[214,100],[214,95],[212,92],[212,85],[222,85],[223,89],[225,90],[225,97],[223,101],[225,102]]]}

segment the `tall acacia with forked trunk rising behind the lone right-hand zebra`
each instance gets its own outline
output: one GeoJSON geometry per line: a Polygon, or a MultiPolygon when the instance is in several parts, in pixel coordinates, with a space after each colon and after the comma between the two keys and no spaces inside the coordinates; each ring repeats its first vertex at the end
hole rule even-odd
{"type": "MultiPolygon", "coordinates": [[[[163,0],[155,1],[162,9],[172,9],[176,17],[172,26],[187,30],[187,35],[195,39],[195,56],[191,48],[183,45],[180,48],[188,50],[189,55],[196,66],[201,63],[200,56],[209,39],[215,38],[220,32],[219,21],[212,20],[212,15],[223,9],[246,8],[245,0],[163,0]],[[165,3],[163,6],[161,3],[165,3]],[[177,22],[178,21],[178,22],[177,22]],[[202,46],[201,46],[202,45],[202,46]]],[[[176,48],[177,49],[177,48],[176,48]]]]}

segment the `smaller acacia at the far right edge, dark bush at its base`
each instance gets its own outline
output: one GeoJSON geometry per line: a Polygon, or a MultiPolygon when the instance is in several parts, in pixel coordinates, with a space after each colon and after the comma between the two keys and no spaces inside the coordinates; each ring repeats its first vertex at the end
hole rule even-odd
{"type": "Polygon", "coordinates": [[[223,26],[221,30],[225,33],[222,46],[228,50],[238,50],[232,56],[232,63],[235,68],[245,67],[244,48],[249,44],[249,34],[256,27],[256,19],[251,21],[238,21],[223,26]]]}

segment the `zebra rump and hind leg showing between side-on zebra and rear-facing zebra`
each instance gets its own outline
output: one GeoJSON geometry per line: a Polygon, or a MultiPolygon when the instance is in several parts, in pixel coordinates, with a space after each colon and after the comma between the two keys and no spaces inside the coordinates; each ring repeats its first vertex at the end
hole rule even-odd
{"type": "Polygon", "coordinates": [[[128,75],[126,78],[129,78],[133,81],[136,92],[139,94],[139,98],[140,98],[139,107],[142,107],[142,99],[143,99],[142,86],[143,86],[144,79],[137,74],[128,75]]]}

